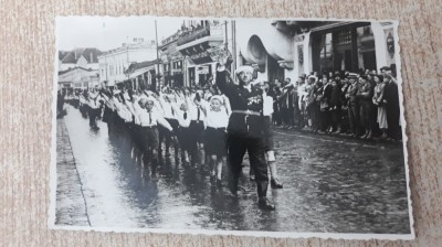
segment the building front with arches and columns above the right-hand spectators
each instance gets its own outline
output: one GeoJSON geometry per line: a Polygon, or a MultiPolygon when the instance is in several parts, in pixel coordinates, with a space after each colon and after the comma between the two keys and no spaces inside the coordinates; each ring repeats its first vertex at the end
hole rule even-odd
{"type": "Polygon", "coordinates": [[[243,63],[259,78],[296,79],[317,72],[379,71],[396,67],[392,22],[239,21],[238,45],[243,63]]]}

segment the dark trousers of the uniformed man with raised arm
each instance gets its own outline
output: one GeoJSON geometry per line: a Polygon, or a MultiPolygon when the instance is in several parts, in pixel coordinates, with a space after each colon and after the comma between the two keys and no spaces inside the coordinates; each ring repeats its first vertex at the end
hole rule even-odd
{"type": "Polygon", "coordinates": [[[236,191],[238,180],[241,173],[241,165],[245,154],[249,152],[250,169],[253,169],[257,186],[257,195],[266,196],[269,186],[267,163],[265,162],[265,141],[263,137],[230,133],[228,137],[229,146],[229,168],[231,176],[229,185],[236,191]]]}

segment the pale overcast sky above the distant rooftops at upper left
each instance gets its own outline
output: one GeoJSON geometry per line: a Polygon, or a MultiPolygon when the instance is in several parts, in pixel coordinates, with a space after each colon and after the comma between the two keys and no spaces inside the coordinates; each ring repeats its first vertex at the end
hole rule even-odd
{"type": "Polygon", "coordinates": [[[61,51],[75,47],[97,47],[102,51],[116,49],[127,39],[155,40],[155,19],[158,24],[158,42],[180,29],[182,18],[151,17],[60,17],[56,21],[57,46],[61,51]]]}

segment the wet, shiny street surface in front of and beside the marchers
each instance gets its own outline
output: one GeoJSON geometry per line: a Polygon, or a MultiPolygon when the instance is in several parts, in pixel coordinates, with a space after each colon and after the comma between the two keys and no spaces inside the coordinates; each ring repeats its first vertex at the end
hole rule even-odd
{"type": "Polygon", "coordinates": [[[93,131],[72,107],[64,120],[92,226],[410,233],[401,144],[347,144],[277,130],[284,189],[269,190],[276,211],[265,212],[246,175],[234,200],[211,186],[207,171],[173,155],[152,167],[124,128],[99,121],[93,131]]]}

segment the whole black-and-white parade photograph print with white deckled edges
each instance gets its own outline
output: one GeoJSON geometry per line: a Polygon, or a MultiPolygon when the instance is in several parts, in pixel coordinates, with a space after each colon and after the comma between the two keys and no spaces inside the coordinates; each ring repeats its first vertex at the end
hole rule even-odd
{"type": "Polygon", "coordinates": [[[398,26],[56,18],[49,224],[412,239],[398,26]]]}

